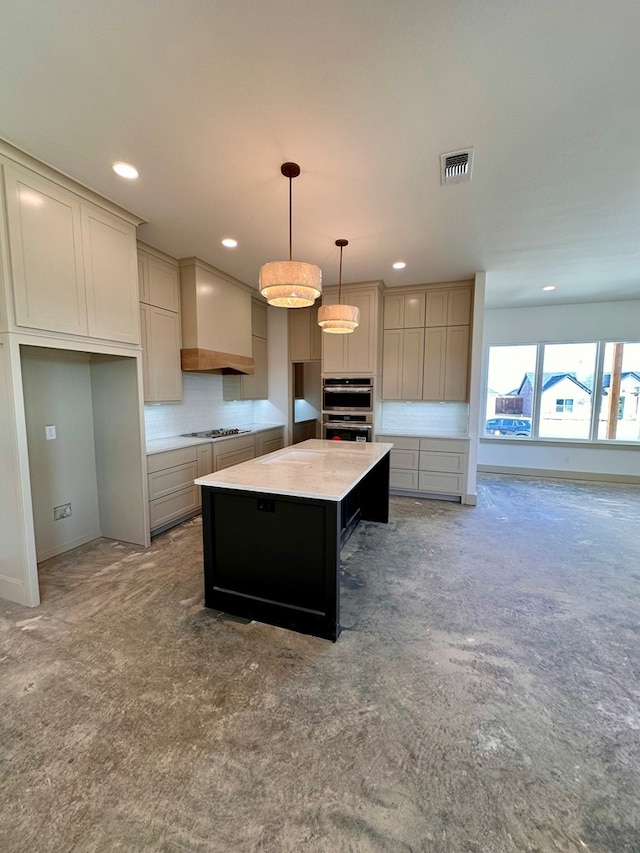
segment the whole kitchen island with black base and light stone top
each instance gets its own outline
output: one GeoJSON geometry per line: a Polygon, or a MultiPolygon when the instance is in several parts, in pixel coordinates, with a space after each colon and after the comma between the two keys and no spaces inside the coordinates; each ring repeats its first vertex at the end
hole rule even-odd
{"type": "Polygon", "coordinates": [[[335,641],[340,548],[389,520],[392,446],[310,439],[198,478],[206,606],[335,641]]]}

